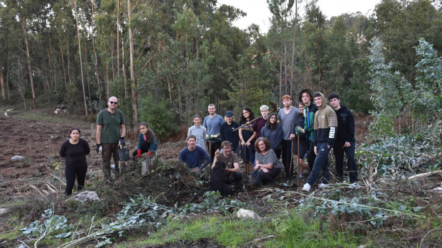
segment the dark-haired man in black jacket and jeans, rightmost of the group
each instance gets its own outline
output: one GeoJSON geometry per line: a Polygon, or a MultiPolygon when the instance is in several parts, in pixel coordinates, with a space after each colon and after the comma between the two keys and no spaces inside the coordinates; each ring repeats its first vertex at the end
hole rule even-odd
{"type": "Polygon", "coordinates": [[[336,159],[336,173],[338,178],[344,179],[344,152],[347,154],[347,167],[349,171],[350,183],[358,181],[358,168],[355,161],[355,119],[352,112],[341,105],[341,99],[337,93],[331,93],[328,97],[331,106],[336,112],[339,128],[336,133],[336,141],[333,146],[333,153],[336,159]]]}

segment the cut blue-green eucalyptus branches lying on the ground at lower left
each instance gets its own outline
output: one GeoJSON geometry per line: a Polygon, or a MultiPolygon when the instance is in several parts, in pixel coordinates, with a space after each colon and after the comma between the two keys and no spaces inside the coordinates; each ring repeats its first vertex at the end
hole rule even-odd
{"type": "Polygon", "coordinates": [[[60,247],[72,247],[90,240],[101,240],[96,247],[103,247],[112,244],[110,236],[115,233],[121,237],[128,230],[143,225],[160,227],[172,216],[202,212],[210,213],[212,211],[227,213],[232,209],[244,206],[244,203],[237,200],[221,199],[219,192],[206,192],[204,196],[205,198],[201,203],[189,203],[181,207],[177,207],[178,203],[176,203],[174,207],[167,207],[156,203],[150,197],[144,198],[140,195],[135,199],[130,198],[130,202],[125,204],[115,218],[109,222],[101,223],[101,227],[94,224],[94,217],[92,217],[90,226],[83,232],[75,229],[72,224],[68,225],[66,217],[53,215],[53,210],[47,209],[45,210],[46,214],[42,215],[45,219],[43,223],[35,221],[29,227],[20,230],[24,234],[40,237],[37,242],[45,237],[67,238],[74,235],[80,237],[60,247]],[[74,230],[75,233],[72,232],[74,230]]]}

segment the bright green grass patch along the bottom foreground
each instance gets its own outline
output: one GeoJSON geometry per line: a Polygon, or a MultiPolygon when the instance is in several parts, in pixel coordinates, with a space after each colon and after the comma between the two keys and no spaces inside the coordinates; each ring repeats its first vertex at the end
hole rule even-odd
{"type": "MultiPolygon", "coordinates": [[[[261,221],[232,216],[210,216],[192,220],[175,219],[148,239],[133,245],[167,245],[183,241],[213,240],[222,247],[357,247],[360,236],[343,231],[332,233],[319,222],[306,223],[292,210],[281,211],[261,221]],[[325,228],[325,229],[323,229],[325,228]]],[[[121,244],[120,244],[121,245],[121,244]]]]}

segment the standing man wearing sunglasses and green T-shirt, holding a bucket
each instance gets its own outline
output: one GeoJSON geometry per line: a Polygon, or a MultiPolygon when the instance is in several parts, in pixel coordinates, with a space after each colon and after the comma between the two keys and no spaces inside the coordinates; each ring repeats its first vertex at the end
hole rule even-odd
{"type": "Polygon", "coordinates": [[[124,124],[123,112],[116,109],[118,100],[111,97],[108,101],[108,108],[100,111],[97,115],[97,153],[103,158],[104,178],[111,181],[111,157],[115,163],[115,177],[119,176],[118,147],[124,147],[124,136],[126,126],[124,124]]]}

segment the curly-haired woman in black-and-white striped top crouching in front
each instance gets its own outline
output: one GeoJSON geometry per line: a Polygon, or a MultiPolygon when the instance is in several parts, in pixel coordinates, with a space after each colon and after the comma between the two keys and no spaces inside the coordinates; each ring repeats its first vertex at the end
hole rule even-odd
{"type": "Polygon", "coordinates": [[[255,178],[253,185],[261,186],[266,184],[275,184],[276,176],[281,172],[282,164],[276,157],[275,151],[270,148],[270,142],[265,137],[259,137],[255,142],[255,161],[253,170],[261,170],[255,178]]]}

